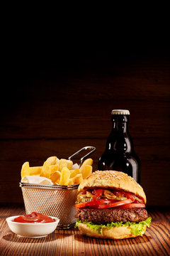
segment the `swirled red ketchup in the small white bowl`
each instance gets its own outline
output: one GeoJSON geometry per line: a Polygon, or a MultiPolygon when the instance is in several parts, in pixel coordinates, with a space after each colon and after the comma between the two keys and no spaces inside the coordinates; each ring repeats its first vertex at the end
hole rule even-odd
{"type": "Polygon", "coordinates": [[[30,213],[27,215],[21,215],[13,219],[14,222],[18,223],[52,223],[55,222],[51,217],[42,215],[41,213],[30,213]]]}

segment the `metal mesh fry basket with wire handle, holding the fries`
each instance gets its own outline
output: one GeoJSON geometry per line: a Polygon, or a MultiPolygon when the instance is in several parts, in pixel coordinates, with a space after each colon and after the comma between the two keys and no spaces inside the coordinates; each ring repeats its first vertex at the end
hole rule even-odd
{"type": "MultiPolygon", "coordinates": [[[[81,151],[91,149],[91,151],[80,159],[80,166],[86,156],[96,150],[94,146],[85,146],[69,159],[77,156],[81,151]]],[[[79,184],[70,186],[42,185],[20,183],[23,193],[23,201],[26,214],[33,212],[54,216],[60,219],[58,228],[69,229],[76,223],[75,202],[77,201],[77,188],[79,184]]]]}

